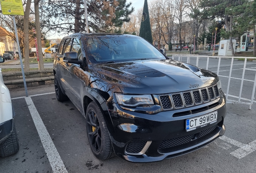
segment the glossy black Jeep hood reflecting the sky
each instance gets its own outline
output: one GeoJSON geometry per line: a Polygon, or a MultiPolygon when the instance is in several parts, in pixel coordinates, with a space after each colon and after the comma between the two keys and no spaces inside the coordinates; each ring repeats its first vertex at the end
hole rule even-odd
{"type": "Polygon", "coordinates": [[[176,60],[134,60],[95,64],[92,72],[122,93],[164,94],[188,91],[217,83],[215,73],[176,60]]]}

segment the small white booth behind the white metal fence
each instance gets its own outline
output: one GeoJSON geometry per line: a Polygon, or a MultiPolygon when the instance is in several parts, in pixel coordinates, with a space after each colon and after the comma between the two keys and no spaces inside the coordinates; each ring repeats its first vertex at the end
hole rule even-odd
{"type": "MultiPolygon", "coordinates": [[[[235,51],[236,40],[233,39],[232,43],[233,43],[233,48],[235,51]]],[[[219,42],[218,56],[232,56],[230,40],[221,40],[219,42]]]]}

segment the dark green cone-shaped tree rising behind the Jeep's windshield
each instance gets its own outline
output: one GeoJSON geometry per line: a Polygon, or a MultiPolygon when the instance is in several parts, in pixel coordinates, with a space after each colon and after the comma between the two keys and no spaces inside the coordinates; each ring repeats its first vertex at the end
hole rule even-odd
{"type": "Polygon", "coordinates": [[[151,32],[151,27],[150,27],[150,20],[149,20],[149,8],[148,8],[147,0],[145,0],[145,2],[144,2],[142,19],[141,19],[141,23],[140,23],[139,36],[142,38],[145,38],[149,42],[153,43],[152,32],[151,32]]]}

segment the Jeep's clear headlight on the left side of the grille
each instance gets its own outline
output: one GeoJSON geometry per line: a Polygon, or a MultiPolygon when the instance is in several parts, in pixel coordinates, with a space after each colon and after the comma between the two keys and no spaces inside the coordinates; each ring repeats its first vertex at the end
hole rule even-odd
{"type": "Polygon", "coordinates": [[[124,95],[115,93],[119,105],[137,107],[139,105],[154,105],[151,95],[124,95]]]}

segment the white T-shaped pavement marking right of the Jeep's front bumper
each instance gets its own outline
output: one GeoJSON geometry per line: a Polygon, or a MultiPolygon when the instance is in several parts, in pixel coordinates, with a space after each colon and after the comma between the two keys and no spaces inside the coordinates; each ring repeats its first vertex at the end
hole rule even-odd
{"type": "Polygon", "coordinates": [[[252,141],[248,144],[243,144],[243,143],[240,143],[238,141],[235,141],[234,139],[230,139],[225,136],[219,137],[219,139],[222,139],[223,141],[226,141],[228,143],[231,143],[231,144],[239,147],[239,149],[230,153],[231,155],[235,156],[238,159],[241,159],[241,158],[245,157],[246,155],[252,153],[253,151],[256,151],[256,140],[252,141]]]}

